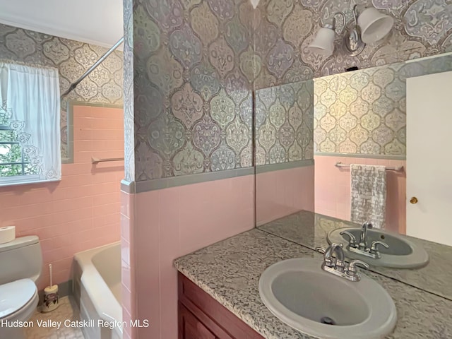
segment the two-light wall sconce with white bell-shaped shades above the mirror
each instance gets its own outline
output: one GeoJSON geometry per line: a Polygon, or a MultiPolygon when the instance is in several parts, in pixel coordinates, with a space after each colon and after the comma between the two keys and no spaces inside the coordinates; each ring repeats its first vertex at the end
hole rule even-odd
{"type": "MultiPolygon", "coordinates": [[[[357,5],[353,6],[354,25],[347,28],[347,20],[343,12],[333,15],[333,25],[326,24],[317,32],[314,40],[309,44],[308,49],[315,54],[325,57],[331,56],[334,51],[335,37],[335,16],[340,15],[344,20],[345,35],[343,38],[344,49],[347,54],[355,57],[362,52],[366,44],[373,44],[385,37],[394,24],[391,16],[380,13],[376,8],[366,8],[359,16],[357,15],[357,5]]],[[[339,34],[342,34],[340,32],[339,34]]]]}

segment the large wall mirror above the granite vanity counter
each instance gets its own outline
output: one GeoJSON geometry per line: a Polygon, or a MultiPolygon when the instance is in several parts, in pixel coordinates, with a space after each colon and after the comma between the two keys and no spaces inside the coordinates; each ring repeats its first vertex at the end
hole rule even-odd
{"type": "MultiPolygon", "coordinates": [[[[362,226],[362,220],[350,218],[352,206],[359,205],[356,197],[352,203],[348,165],[382,165],[386,202],[380,202],[380,215],[373,219],[381,218],[384,232],[403,234],[400,239],[422,246],[429,261],[422,268],[373,265],[371,270],[452,298],[450,227],[438,221],[439,213],[427,213],[439,205],[430,202],[434,194],[427,188],[434,186],[433,179],[441,180],[441,201],[452,202],[452,182],[446,177],[452,158],[444,150],[450,141],[437,128],[450,126],[450,114],[439,119],[430,113],[440,112],[438,102],[447,99],[441,94],[432,99],[441,90],[424,94],[432,88],[429,75],[448,76],[449,71],[450,53],[256,90],[257,226],[310,249],[328,246],[329,232],[362,226]],[[444,166],[436,165],[438,157],[446,158],[444,166]]],[[[349,244],[348,237],[343,240],[349,244]]]]}

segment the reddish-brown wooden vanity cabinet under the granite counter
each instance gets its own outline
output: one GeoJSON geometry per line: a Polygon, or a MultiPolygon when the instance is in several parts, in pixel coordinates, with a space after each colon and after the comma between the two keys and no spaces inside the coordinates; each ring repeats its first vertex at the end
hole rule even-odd
{"type": "Polygon", "coordinates": [[[264,339],[182,273],[179,280],[179,339],[264,339]]]}

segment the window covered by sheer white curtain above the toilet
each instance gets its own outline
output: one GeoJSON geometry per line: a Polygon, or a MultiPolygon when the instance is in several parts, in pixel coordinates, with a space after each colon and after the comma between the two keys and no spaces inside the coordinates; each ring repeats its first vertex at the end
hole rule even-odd
{"type": "Polygon", "coordinates": [[[0,62],[0,186],[61,179],[57,69],[0,62]]]}

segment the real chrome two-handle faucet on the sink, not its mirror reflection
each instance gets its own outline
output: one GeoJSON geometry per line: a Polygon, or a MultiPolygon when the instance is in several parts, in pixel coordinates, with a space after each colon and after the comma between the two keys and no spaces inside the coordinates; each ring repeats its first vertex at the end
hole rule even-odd
{"type": "Polygon", "coordinates": [[[345,263],[345,255],[342,249],[343,244],[331,244],[327,249],[317,247],[316,251],[324,254],[322,269],[328,273],[338,275],[341,278],[345,278],[350,281],[359,281],[361,276],[359,275],[356,266],[360,265],[369,269],[369,265],[360,260],[352,260],[347,265],[345,263]],[[333,256],[335,254],[335,257],[333,256]]]}

